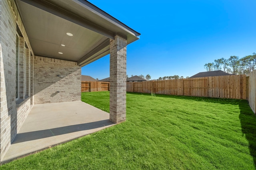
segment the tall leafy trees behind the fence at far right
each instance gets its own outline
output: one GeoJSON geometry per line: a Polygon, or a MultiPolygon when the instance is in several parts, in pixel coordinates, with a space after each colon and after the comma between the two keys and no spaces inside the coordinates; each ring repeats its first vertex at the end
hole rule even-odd
{"type": "Polygon", "coordinates": [[[231,74],[249,74],[256,68],[256,53],[239,59],[237,56],[230,56],[228,59],[217,59],[214,63],[204,64],[207,71],[223,70],[231,74]]]}

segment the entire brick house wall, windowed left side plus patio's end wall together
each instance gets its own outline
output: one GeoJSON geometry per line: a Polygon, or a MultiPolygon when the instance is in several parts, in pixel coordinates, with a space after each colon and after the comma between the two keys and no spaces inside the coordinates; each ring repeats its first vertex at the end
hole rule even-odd
{"type": "Polygon", "coordinates": [[[81,67],[34,56],[14,0],[0,0],[0,161],[34,104],[78,101],[80,90],[81,67]]]}

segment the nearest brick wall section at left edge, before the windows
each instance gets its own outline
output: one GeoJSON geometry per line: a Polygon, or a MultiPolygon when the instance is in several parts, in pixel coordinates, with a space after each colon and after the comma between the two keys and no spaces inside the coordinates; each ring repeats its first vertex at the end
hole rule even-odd
{"type": "Polygon", "coordinates": [[[16,21],[7,1],[0,1],[0,159],[10,146],[16,117],[16,21]]]}

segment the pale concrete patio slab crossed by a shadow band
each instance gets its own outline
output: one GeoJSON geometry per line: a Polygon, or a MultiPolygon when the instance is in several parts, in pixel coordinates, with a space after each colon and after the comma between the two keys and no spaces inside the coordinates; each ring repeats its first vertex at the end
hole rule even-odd
{"type": "Polygon", "coordinates": [[[81,101],[34,105],[2,162],[112,125],[109,113],[81,101]]]}

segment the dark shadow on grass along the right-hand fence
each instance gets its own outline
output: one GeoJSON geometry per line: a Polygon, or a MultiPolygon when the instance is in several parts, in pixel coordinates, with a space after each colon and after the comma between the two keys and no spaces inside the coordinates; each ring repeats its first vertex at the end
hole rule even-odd
{"type": "Polygon", "coordinates": [[[239,109],[242,133],[249,143],[250,155],[253,157],[254,168],[256,168],[256,116],[247,101],[239,102],[239,109]]]}

